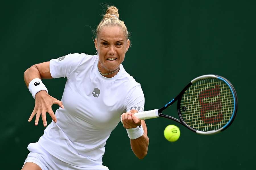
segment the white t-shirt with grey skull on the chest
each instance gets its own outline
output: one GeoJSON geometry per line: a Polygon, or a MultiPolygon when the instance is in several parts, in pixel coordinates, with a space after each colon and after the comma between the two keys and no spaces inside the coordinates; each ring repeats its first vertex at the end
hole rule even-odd
{"type": "Polygon", "coordinates": [[[84,53],[50,61],[53,78],[67,77],[61,99],[64,109],[56,110],[57,123],[52,121],[38,141],[59,160],[92,169],[102,165],[104,146],[121,114],[144,109],[141,86],[123,65],[117,75],[106,78],[97,64],[98,56],[84,53]]]}

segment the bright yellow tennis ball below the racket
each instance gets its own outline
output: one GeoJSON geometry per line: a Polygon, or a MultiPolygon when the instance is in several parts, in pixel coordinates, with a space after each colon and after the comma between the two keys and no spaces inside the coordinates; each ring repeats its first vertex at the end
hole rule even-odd
{"type": "Polygon", "coordinates": [[[170,142],[177,141],[179,139],[179,135],[179,128],[175,125],[168,125],[164,129],[164,137],[170,142]]]}

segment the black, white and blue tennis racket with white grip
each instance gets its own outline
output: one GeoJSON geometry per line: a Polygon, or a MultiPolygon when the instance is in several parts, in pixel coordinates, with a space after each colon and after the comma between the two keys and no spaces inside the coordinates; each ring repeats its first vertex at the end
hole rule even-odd
{"type": "Polygon", "coordinates": [[[228,128],[234,121],[236,111],[237,96],[232,84],[221,76],[203,75],[189,82],[177,97],[161,109],[134,115],[140,120],[158,117],[172,119],[198,134],[211,135],[228,128]],[[179,119],[162,114],[175,101],[179,119]]]}

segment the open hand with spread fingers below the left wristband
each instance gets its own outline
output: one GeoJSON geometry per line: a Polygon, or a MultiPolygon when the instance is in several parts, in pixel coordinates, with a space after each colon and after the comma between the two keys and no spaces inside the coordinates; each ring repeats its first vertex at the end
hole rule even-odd
{"type": "Polygon", "coordinates": [[[46,127],[46,125],[47,125],[46,112],[48,112],[49,115],[51,116],[52,120],[56,123],[57,118],[55,117],[55,114],[53,113],[51,106],[53,104],[57,104],[61,108],[64,108],[62,102],[55,99],[54,97],[51,97],[45,90],[41,90],[40,92],[38,92],[36,94],[35,98],[36,98],[35,107],[34,107],[32,114],[30,115],[30,117],[28,119],[28,122],[30,122],[36,114],[35,125],[37,125],[40,115],[42,115],[43,124],[44,124],[44,127],[46,127]]]}

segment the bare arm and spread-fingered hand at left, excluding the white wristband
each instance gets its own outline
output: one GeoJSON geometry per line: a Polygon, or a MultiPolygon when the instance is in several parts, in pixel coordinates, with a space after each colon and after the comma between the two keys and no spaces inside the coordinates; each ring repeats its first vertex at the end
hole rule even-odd
{"type": "MultiPolygon", "coordinates": [[[[40,78],[40,79],[51,79],[51,73],[50,73],[50,61],[35,64],[31,66],[29,69],[27,69],[24,72],[24,81],[26,83],[26,86],[28,87],[31,80],[34,78],[40,78]]],[[[48,112],[52,118],[52,120],[56,123],[57,119],[55,117],[54,112],[51,109],[51,106],[53,104],[59,105],[61,108],[63,107],[63,104],[61,101],[55,99],[54,97],[50,96],[45,90],[39,91],[35,95],[35,107],[30,115],[28,122],[31,122],[33,117],[36,115],[35,125],[38,125],[38,121],[40,118],[40,115],[42,116],[43,124],[46,127],[46,112],[48,112]]]]}

